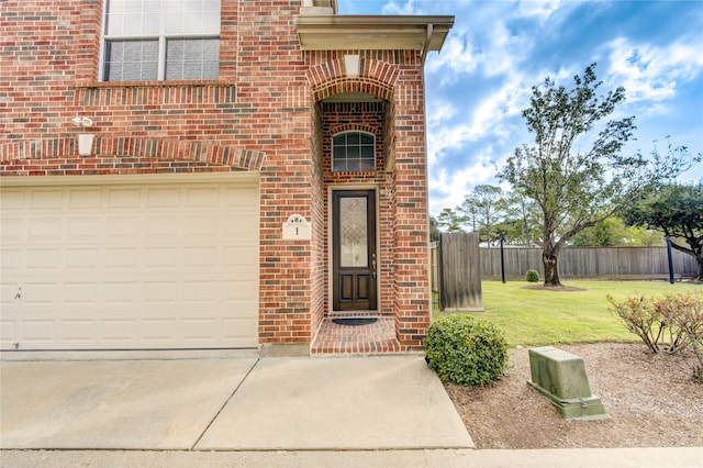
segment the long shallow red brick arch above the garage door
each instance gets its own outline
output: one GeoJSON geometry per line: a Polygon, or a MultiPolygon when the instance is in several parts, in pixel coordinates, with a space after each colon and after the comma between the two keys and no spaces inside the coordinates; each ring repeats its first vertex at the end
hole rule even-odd
{"type": "Polygon", "coordinates": [[[198,168],[260,170],[264,160],[263,152],[217,143],[164,138],[97,136],[90,156],[78,156],[77,138],[0,145],[0,168],[4,175],[46,170],[52,174],[148,174],[198,168]],[[58,159],[62,161],[57,166],[58,159]]]}

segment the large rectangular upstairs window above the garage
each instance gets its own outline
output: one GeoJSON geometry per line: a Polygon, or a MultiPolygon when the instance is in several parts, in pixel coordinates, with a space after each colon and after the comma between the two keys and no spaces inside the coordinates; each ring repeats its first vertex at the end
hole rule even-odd
{"type": "Polygon", "coordinates": [[[107,0],[102,79],[220,76],[220,0],[107,0]]]}

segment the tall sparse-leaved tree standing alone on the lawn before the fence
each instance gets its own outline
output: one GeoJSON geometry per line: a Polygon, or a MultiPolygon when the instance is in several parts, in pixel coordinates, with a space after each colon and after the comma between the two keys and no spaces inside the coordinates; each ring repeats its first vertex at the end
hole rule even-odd
{"type": "MultiPolygon", "coordinates": [[[[516,148],[498,175],[539,207],[546,286],[561,283],[557,261],[571,237],[690,166],[683,147],[670,147],[665,156],[655,151],[650,158],[621,154],[636,129],[634,116],[603,122],[624,101],[625,89],[599,97],[594,68],[573,77],[570,90],[549,78],[533,87],[523,116],[535,144],[516,148]]],[[[700,159],[699,154],[694,160],[700,159]]]]}

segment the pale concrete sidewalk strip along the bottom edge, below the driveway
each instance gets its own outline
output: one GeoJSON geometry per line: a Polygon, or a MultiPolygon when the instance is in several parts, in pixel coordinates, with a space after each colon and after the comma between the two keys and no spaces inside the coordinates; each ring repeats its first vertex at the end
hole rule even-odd
{"type": "Polygon", "coordinates": [[[700,468],[703,448],[381,452],[0,452],[3,468],[700,468]]]}

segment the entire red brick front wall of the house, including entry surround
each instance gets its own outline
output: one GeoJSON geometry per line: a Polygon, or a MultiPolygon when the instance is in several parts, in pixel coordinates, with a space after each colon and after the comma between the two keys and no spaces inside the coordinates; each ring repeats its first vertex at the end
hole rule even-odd
{"type": "Polygon", "coordinates": [[[372,181],[390,246],[382,312],[414,348],[429,316],[420,54],[357,52],[362,74],[345,78],[343,52],[300,51],[300,3],[222,0],[217,80],[115,83],[98,80],[103,0],[1,2],[0,175],[259,170],[261,343],[311,341],[328,310],[326,185],[372,181]],[[375,175],[325,168],[315,103],[352,90],[389,102],[372,118],[384,119],[375,175]],[[77,115],[94,121],[90,156],[77,155],[77,115]],[[312,241],[281,238],[292,213],[312,222],[312,241]]]}

